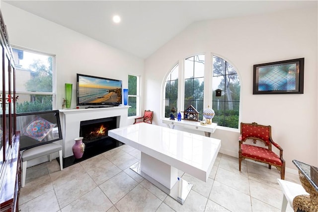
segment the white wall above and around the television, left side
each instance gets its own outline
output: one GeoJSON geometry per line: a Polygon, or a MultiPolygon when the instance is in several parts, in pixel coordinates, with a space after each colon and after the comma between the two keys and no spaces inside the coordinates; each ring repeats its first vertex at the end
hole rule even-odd
{"type": "Polygon", "coordinates": [[[65,83],[73,84],[72,107],[76,107],[77,73],[122,80],[123,88],[128,88],[128,74],[144,74],[141,58],[5,2],[1,11],[11,45],[56,55],[57,109],[62,108],[65,83]]]}

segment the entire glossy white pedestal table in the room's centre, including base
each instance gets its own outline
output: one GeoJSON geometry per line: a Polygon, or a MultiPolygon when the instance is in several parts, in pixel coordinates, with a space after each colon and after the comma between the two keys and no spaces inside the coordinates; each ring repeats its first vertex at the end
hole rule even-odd
{"type": "Polygon", "coordinates": [[[221,140],[154,124],[139,123],[108,135],[141,151],[131,169],[183,204],[192,185],[178,178],[178,169],[207,182],[221,140]]]}

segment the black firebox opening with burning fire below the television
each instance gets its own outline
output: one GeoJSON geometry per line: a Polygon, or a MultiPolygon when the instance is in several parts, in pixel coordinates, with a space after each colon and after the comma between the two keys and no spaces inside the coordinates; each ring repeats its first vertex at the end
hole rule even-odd
{"type": "Polygon", "coordinates": [[[108,137],[108,130],[115,129],[117,117],[107,117],[94,120],[80,121],[79,136],[83,143],[90,143],[108,137]]]}

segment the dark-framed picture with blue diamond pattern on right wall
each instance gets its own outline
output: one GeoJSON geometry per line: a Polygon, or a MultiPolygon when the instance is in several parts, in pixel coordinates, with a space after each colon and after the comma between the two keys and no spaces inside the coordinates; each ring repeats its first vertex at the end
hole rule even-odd
{"type": "Polygon", "coordinates": [[[304,94],[305,58],[253,65],[253,94],[304,94]]]}

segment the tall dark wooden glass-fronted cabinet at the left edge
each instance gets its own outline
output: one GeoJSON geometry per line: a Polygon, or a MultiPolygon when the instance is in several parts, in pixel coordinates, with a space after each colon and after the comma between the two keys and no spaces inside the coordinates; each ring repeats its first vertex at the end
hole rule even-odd
{"type": "Polygon", "coordinates": [[[20,136],[16,132],[15,65],[0,11],[0,212],[18,211],[20,136]]]}

